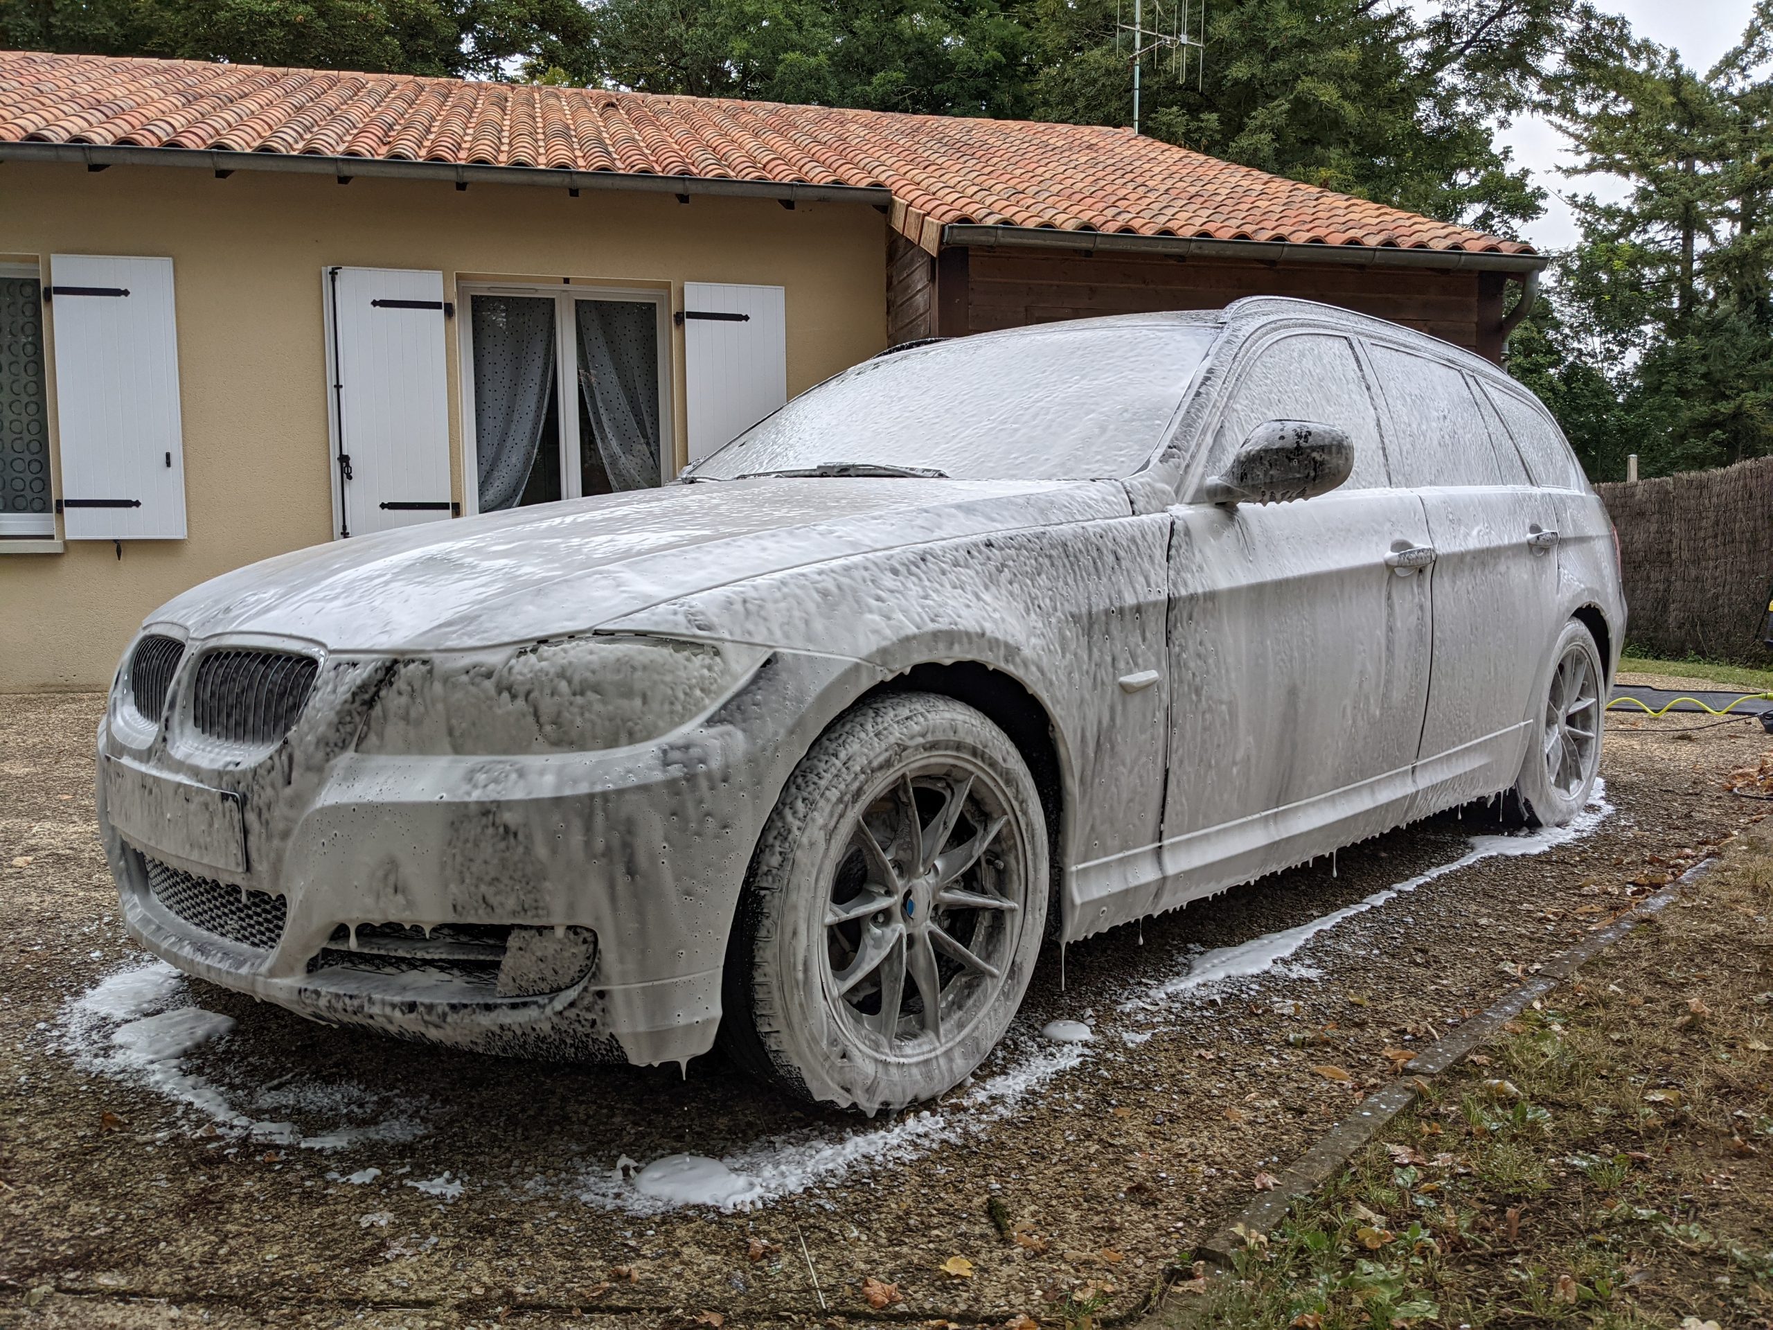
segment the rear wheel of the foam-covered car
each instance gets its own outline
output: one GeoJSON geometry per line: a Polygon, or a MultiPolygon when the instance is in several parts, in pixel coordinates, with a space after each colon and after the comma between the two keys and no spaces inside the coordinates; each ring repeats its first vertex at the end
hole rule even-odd
{"type": "Polygon", "coordinates": [[[1521,775],[1502,796],[1523,825],[1564,826],[1587,807],[1601,770],[1605,679],[1594,635],[1571,619],[1551,649],[1521,775]]]}

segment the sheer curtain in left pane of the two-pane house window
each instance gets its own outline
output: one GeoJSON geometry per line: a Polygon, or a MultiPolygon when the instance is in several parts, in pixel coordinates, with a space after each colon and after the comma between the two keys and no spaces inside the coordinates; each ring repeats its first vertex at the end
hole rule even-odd
{"type": "Polygon", "coordinates": [[[473,296],[473,447],[482,512],[523,497],[553,381],[553,300],[473,296]]]}

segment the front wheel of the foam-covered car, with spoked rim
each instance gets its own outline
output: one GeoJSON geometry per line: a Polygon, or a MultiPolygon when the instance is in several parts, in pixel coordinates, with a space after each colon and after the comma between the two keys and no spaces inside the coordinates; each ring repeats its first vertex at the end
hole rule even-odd
{"type": "Polygon", "coordinates": [[[860,702],[794,768],[759,837],[722,1048],[796,1098],[871,1115],[952,1089],[1028,988],[1046,844],[1034,777],[984,715],[936,693],[860,702]]]}

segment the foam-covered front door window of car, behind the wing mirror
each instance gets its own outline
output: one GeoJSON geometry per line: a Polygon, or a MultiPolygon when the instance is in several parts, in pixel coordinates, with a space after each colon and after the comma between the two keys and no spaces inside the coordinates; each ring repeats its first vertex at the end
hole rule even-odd
{"type": "Polygon", "coordinates": [[[1355,472],[1344,489],[1390,486],[1379,415],[1355,348],[1332,333],[1296,333],[1262,348],[1232,388],[1220,420],[1211,468],[1225,466],[1264,420],[1316,420],[1355,440],[1355,472]]]}

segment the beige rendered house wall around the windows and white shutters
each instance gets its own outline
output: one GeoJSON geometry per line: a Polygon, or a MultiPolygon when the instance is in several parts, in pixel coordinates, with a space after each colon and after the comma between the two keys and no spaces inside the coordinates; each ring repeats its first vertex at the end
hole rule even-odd
{"type": "MultiPolygon", "coordinates": [[[[886,218],[865,204],[619,193],[119,165],[0,165],[0,262],[170,257],[179,326],[188,539],[0,541],[0,692],[103,688],[142,617],[202,582],[332,536],[321,270],[658,287],[785,287],[796,394],[886,346],[886,218]]],[[[48,316],[50,395],[55,314],[48,316]]],[[[449,325],[452,491],[463,500],[461,328],[449,325]]],[[[672,326],[684,459],[683,328],[672,326]]],[[[57,495],[60,477],[57,475],[57,495]]]]}

